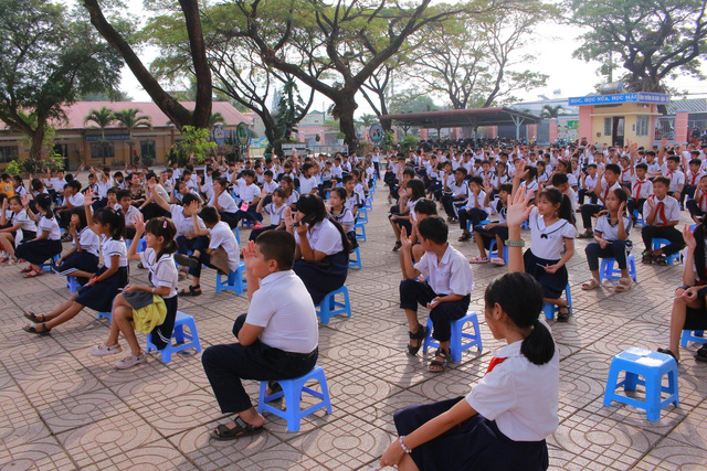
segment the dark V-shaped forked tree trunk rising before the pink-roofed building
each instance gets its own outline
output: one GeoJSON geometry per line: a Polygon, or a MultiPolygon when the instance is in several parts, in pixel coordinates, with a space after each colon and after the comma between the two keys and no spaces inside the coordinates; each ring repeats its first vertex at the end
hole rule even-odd
{"type": "MultiPolygon", "coordinates": [[[[202,34],[198,0],[179,0],[178,9],[181,28],[189,38],[190,60],[197,82],[197,96],[193,110],[182,106],[177,98],[162,88],[157,78],[138,57],[136,50],[130,43],[130,35],[120,32],[116,29],[115,21],[112,23],[106,18],[106,13],[102,7],[104,2],[99,0],[82,0],[82,2],[86,11],[88,11],[91,22],[96,30],[98,30],[101,35],[123,56],[133,75],[135,75],[135,78],[137,78],[143,88],[145,88],[145,92],[147,92],[150,98],[152,98],[152,101],[169,117],[177,128],[182,129],[184,126],[193,126],[205,129],[209,127],[212,103],[211,69],[207,61],[207,50],[202,34]]],[[[165,2],[158,2],[151,7],[160,9],[170,6],[165,2]]],[[[172,7],[169,8],[169,10],[177,10],[177,8],[172,7]]],[[[150,32],[150,34],[155,34],[155,31],[150,32]]]]}

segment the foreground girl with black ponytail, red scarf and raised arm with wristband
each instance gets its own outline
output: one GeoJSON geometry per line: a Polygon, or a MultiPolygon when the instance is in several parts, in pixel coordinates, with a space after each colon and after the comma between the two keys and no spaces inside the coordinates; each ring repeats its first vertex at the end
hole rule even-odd
{"type": "Polygon", "coordinates": [[[524,270],[520,224],[531,194],[508,205],[508,270],[486,288],[484,317],[495,352],[486,375],[462,398],[408,407],[394,416],[400,436],[380,465],[399,470],[548,468],[546,437],[557,430],[560,361],[538,317],[542,287],[524,270]]]}

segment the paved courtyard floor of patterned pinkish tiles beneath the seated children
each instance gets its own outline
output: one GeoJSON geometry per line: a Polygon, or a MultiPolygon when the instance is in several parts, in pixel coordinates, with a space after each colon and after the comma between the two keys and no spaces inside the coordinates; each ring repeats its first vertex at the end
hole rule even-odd
{"type": "MultiPolygon", "coordinates": [[[[0,267],[0,467],[24,469],[244,469],[352,470],[377,461],[394,433],[392,414],[411,404],[462,396],[488,366],[495,341],[483,321],[482,295],[505,268],[474,266],[484,351],[467,351],[446,373],[429,373],[425,358],[404,353],[404,314],[398,309],[398,254],[386,218],[384,192],[369,213],[361,243],[362,270],[349,271],[354,317],[319,328],[319,365],[326,372],[334,414],[305,418],[299,432],[266,415],[267,430],[234,442],[215,442],[209,430],[224,420],[201,367],[190,351],[165,365],[158,355],[129,371],[115,357],[93,357],[107,321],[93,311],[36,338],[21,331],[22,310],[44,312],[68,296],[63,278],[24,280],[17,267],[0,267]]],[[[581,223],[580,223],[581,225],[581,223]]],[[[458,229],[452,231],[456,240],[458,229]]],[[[526,238],[529,234],[524,235],[526,238]]],[[[247,231],[241,231],[242,239],[247,231]]],[[[635,254],[643,248],[633,229],[635,254]]],[[[682,266],[639,264],[639,283],[626,293],[583,292],[588,277],[584,242],[569,264],[574,315],[550,322],[561,354],[560,427],[549,438],[553,469],[705,469],[707,467],[707,365],[696,364],[689,345],[679,365],[680,407],[661,421],[613,403],[602,406],[612,355],[629,346],[667,345],[673,288],[682,266]]],[[[473,242],[454,243],[477,255],[473,242]]],[[[146,271],[131,266],[146,282],[146,271]]],[[[187,281],[182,282],[184,286],[187,281]]],[[[204,295],[181,299],[180,310],[197,320],[203,347],[232,341],[231,327],[247,309],[245,296],[214,293],[213,271],[204,295]]],[[[420,311],[421,318],[425,313],[420,311]]],[[[144,336],[139,338],[144,342],[144,336]]],[[[126,343],[123,342],[124,346],[126,343]]],[[[257,384],[247,385],[256,397],[257,384]]]]}

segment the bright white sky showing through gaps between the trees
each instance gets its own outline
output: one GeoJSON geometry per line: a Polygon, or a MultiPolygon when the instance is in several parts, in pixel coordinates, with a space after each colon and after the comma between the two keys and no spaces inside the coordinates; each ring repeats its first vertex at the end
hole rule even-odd
{"type": "MultiPolygon", "coordinates": [[[[145,14],[143,0],[128,0],[127,3],[130,12],[138,18],[145,14]]],[[[523,101],[534,101],[538,100],[541,95],[553,98],[584,96],[593,93],[594,86],[603,78],[597,75],[599,63],[587,63],[572,57],[572,52],[581,46],[579,40],[581,34],[582,30],[574,25],[553,22],[538,25],[526,49],[519,51],[519,54],[527,53],[535,56],[535,61],[517,68],[529,68],[549,75],[547,85],[536,89],[518,90],[514,93],[514,96],[523,101]],[[556,93],[558,90],[559,93],[556,93]]],[[[149,64],[158,54],[159,51],[154,47],[144,47],[140,57],[146,64],[149,64]]],[[[687,89],[690,93],[707,95],[707,84],[695,78],[678,78],[669,85],[680,90],[687,89]]],[[[135,101],[151,101],[149,95],[145,93],[127,66],[123,71],[120,89],[131,96],[135,101]]],[[[440,105],[444,105],[441,100],[437,99],[437,101],[440,105]]],[[[372,114],[363,97],[357,99],[357,103],[359,105],[357,116],[372,114]]],[[[323,110],[329,105],[330,101],[326,97],[318,95],[315,98],[313,109],[323,110]]]]}

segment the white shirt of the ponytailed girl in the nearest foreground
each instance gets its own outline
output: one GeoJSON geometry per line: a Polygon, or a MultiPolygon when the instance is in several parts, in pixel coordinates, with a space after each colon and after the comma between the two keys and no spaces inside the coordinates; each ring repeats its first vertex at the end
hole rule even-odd
{"type": "MultiPolygon", "coordinates": [[[[550,330],[545,320],[540,320],[550,330]]],[[[560,355],[535,365],[520,353],[523,341],[494,352],[496,364],[474,385],[466,402],[514,441],[539,441],[559,425],[560,355]]]]}

